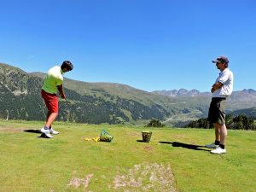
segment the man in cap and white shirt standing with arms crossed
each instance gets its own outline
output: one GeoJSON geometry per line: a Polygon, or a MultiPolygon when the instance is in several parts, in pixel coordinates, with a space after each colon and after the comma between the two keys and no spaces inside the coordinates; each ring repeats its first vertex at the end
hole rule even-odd
{"type": "Polygon", "coordinates": [[[215,128],[215,143],[206,145],[207,148],[215,148],[212,154],[224,154],[227,128],[225,125],[225,105],[226,98],[233,91],[233,73],[230,71],[229,59],[226,56],[219,56],[215,61],[216,67],[220,70],[218,79],[212,85],[212,102],[210,104],[208,120],[215,128]]]}

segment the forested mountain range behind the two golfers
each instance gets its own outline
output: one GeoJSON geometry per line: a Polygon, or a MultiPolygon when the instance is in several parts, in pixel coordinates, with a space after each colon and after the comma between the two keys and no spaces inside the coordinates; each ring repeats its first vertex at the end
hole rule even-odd
{"type": "MultiPolygon", "coordinates": [[[[46,108],[40,96],[44,73],[26,73],[0,63],[0,118],[44,120],[46,108]]],[[[64,79],[67,100],[60,99],[58,120],[89,124],[145,123],[160,119],[198,119],[207,116],[211,94],[199,90],[148,92],[129,85],[87,83],[64,79]],[[180,118],[181,117],[181,118],[180,118]]],[[[256,107],[256,91],[234,91],[227,109],[256,107]]]]}

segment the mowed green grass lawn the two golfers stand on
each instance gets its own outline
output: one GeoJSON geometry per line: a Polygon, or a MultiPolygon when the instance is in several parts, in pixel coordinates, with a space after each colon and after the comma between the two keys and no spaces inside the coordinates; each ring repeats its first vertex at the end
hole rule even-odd
{"type": "Polygon", "coordinates": [[[227,154],[204,148],[213,130],[0,120],[0,191],[230,191],[256,189],[256,131],[229,131],[227,154]],[[102,129],[112,143],[85,141],[102,129]],[[152,131],[150,143],[141,132],[152,131]],[[173,180],[174,179],[174,180],[173,180]]]}

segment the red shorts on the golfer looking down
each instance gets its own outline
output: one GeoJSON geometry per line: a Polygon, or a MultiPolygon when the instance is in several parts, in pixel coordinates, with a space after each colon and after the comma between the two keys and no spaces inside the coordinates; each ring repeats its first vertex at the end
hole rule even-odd
{"type": "Polygon", "coordinates": [[[45,105],[50,113],[59,112],[59,102],[56,94],[50,94],[45,92],[45,90],[42,90],[41,96],[44,98],[45,105]]]}

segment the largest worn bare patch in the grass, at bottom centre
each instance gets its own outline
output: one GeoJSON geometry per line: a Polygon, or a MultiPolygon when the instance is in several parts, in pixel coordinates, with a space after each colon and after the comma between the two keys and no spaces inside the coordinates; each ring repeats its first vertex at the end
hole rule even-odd
{"type": "Polygon", "coordinates": [[[135,165],[125,174],[116,175],[113,189],[119,192],[177,192],[171,167],[157,163],[135,165]]]}

